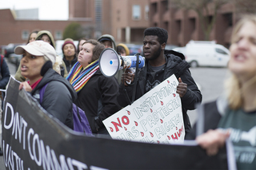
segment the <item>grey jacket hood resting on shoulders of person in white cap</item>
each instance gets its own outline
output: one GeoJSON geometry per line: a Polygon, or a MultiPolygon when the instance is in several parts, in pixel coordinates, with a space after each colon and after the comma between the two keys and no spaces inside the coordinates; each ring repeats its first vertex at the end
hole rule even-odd
{"type": "Polygon", "coordinates": [[[46,74],[42,77],[42,80],[39,82],[37,87],[32,90],[32,94],[37,91],[38,89],[41,89],[44,85],[47,83],[50,83],[50,81],[60,81],[62,82],[66,88],[69,90],[72,100],[75,101],[78,97],[77,93],[74,91],[73,86],[70,84],[69,81],[67,81],[64,77],[62,77],[60,74],[58,74],[54,69],[48,69],[46,74]]]}

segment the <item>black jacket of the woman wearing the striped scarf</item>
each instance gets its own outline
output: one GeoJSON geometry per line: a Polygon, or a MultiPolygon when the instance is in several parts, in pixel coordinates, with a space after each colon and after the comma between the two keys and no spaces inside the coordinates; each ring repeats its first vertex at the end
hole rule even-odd
{"type": "Polygon", "coordinates": [[[99,69],[78,92],[78,99],[74,103],[85,111],[93,133],[106,130],[102,121],[121,109],[117,95],[116,78],[103,76],[99,69]]]}

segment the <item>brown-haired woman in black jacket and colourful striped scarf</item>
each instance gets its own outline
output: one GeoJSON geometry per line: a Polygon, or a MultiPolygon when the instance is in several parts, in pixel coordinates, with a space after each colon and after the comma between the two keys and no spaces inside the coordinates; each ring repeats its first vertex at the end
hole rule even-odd
{"type": "Polygon", "coordinates": [[[118,82],[114,77],[104,77],[98,66],[98,58],[104,46],[96,40],[82,45],[78,62],[66,79],[78,93],[74,104],[85,111],[90,127],[95,134],[108,134],[102,121],[118,112],[118,82]]]}

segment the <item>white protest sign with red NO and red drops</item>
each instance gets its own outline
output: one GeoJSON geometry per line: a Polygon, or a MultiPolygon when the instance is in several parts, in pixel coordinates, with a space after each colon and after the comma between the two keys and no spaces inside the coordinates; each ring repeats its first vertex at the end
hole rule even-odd
{"type": "Polygon", "coordinates": [[[185,128],[177,78],[172,75],[132,105],[103,121],[113,139],[170,144],[182,141],[185,128]]]}

